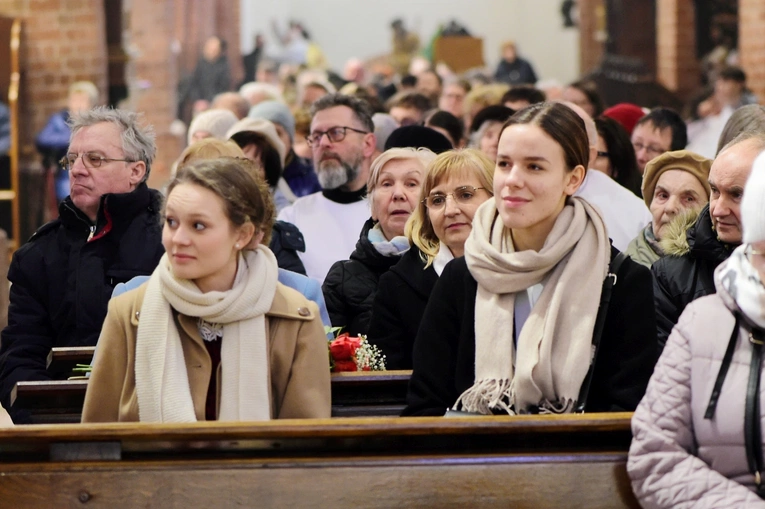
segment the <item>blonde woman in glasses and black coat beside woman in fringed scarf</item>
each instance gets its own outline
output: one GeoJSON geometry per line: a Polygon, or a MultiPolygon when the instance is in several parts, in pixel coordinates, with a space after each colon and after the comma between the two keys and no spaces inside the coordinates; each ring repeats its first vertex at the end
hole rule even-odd
{"type": "Polygon", "coordinates": [[[412,369],[412,346],[430,292],[446,264],[463,255],[473,215],[493,193],[494,163],[475,149],[450,150],[428,166],[406,226],[411,248],[380,276],[369,341],[388,369],[412,369]]]}

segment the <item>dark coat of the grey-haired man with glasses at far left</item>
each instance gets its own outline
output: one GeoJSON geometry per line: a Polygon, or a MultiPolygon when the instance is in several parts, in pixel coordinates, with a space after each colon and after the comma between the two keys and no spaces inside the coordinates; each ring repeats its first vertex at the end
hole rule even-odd
{"type": "Polygon", "coordinates": [[[8,270],[8,326],[0,340],[0,398],[6,408],[16,382],[50,379],[46,360],[52,347],[96,344],[117,283],[154,271],[164,253],[161,200],[146,184],[105,195],[93,225],[67,198],[59,218],[16,251],[8,270]]]}

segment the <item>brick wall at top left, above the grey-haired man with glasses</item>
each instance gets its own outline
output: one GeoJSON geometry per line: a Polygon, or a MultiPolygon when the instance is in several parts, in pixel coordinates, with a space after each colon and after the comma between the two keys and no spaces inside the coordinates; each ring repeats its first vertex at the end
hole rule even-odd
{"type": "Polygon", "coordinates": [[[106,92],[103,0],[0,0],[0,14],[23,19],[19,141],[28,167],[35,134],[66,107],[69,85],[89,80],[106,92]]]}

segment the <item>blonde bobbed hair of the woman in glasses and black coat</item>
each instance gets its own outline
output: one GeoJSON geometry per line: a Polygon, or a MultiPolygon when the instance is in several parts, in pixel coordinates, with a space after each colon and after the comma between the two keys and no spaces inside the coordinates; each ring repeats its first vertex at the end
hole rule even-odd
{"type": "Polygon", "coordinates": [[[423,200],[441,182],[448,180],[453,175],[460,174],[475,175],[481,183],[481,187],[486,189],[490,196],[494,196],[494,163],[483,152],[466,148],[449,150],[436,156],[428,166],[425,182],[420,189],[420,201],[406,223],[405,232],[409,242],[417,246],[422,252],[425,268],[430,267],[433,263],[441,246],[441,241],[436,236],[423,200]]]}

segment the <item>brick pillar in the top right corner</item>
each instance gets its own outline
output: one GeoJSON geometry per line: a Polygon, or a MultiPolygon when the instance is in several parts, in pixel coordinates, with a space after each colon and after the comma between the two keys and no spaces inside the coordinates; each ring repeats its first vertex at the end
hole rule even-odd
{"type": "Polygon", "coordinates": [[[749,88],[765,102],[765,2],[739,0],[738,45],[749,88]]]}

